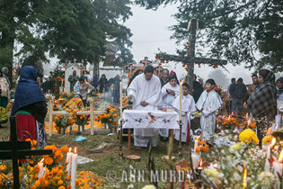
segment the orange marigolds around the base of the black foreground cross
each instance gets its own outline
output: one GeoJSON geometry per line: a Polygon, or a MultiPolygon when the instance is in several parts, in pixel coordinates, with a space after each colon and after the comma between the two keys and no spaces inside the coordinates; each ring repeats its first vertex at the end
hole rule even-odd
{"type": "MultiPolygon", "coordinates": [[[[34,141],[28,139],[28,141],[34,141]]],[[[67,176],[66,162],[64,161],[64,154],[68,151],[68,147],[64,146],[58,149],[55,145],[46,146],[45,149],[52,149],[53,155],[44,156],[45,176],[38,178],[40,172],[38,163],[38,156],[34,158],[33,164],[28,162],[19,167],[20,182],[22,188],[71,188],[71,176],[67,176]]],[[[13,185],[12,170],[8,170],[6,165],[0,165],[0,187],[12,188],[13,185]]],[[[76,188],[103,188],[103,181],[91,171],[79,171],[76,178],[76,188]]]]}

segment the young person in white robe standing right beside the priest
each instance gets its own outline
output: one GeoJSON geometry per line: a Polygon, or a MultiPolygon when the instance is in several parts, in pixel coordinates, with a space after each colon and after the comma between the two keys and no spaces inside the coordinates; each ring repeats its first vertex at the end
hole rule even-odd
{"type": "MultiPolygon", "coordinates": [[[[172,108],[173,109],[173,101],[179,95],[180,86],[177,84],[177,76],[175,74],[171,74],[168,78],[168,83],[165,84],[161,88],[161,96],[163,105],[162,108],[172,108]]],[[[160,135],[161,137],[168,137],[169,130],[161,129],[160,135]]]]}

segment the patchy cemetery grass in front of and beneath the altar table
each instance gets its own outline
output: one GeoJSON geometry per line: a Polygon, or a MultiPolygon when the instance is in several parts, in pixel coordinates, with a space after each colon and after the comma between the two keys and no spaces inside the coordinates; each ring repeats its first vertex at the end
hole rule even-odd
{"type": "MultiPolygon", "coordinates": [[[[9,131],[9,126],[4,125],[0,129],[1,135],[9,131]]],[[[0,135],[0,137],[1,137],[0,135]]],[[[68,147],[77,147],[79,156],[85,156],[93,159],[93,162],[88,164],[79,165],[78,171],[93,171],[100,178],[105,180],[105,188],[127,188],[128,185],[132,184],[134,188],[142,188],[146,184],[150,184],[149,176],[150,171],[148,171],[148,151],[146,148],[133,147],[132,141],[132,153],[134,155],[140,156],[141,161],[129,161],[127,159],[121,160],[119,156],[119,139],[117,139],[117,134],[113,136],[107,135],[85,135],[86,140],[83,142],[75,142],[76,135],[59,135],[54,134],[52,137],[47,136],[47,144],[55,144],[58,148],[67,145],[68,147]],[[97,149],[101,144],[105,143],[105,147],[102,149],[97,149]],[[102,151],[101,153],[91,154],[90,151],[102,151]],[[130,166],[137,170],[144,170],[145,176],[144,182],[129,182],[129,171],[130,166]],[[127,181],[124,179],[122,181],[122,172],[127,171],[127,181]],[[117,175],[113,181],[108,181],[107,174],[114,173],[117,175]],[[114,172],[113,172],[114,171],[114,172]]],[[[161,171],[164,169],[170,170],[168,164],[162,161],[161,157],[167,155],[168,142],[159,141],[157,147],[153,149],[152,156],[154,157],[154,163],[156,170],[161,171]]],[[[182,154],[183,157],[189,160],[189,149],[193,147],[193,144],[182,144],[182,154]]],[[[127,141],[123,141],[123,154],[128,155],[127,141]]],[[[178,142],[174,140],[173,156],[178,159],[178,142]]],[[[175,162],[175,161],[174,161],[175,162]]],[[[113,176],[113,174],[112,174],[113,176]]],[[[168,180],[169,181],[169,180],[168,180]]],[[[159,182],[158,188],[169,188],[169,182],[159,182]]],[[[104,188],[104,187],[103,187],[104,188]]],[[[177,185],[174,183],[174,188],[177,185]]]]}

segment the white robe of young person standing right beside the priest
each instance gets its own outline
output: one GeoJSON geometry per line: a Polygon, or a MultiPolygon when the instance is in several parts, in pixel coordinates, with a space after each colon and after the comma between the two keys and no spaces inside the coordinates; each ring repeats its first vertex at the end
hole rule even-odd
{"type": "MultiPolygon", "coordinates": [[[[165,86],[161,88],[161,96],[163,105],[162,108],[173,108],[173,101],[175,100],[176,96],[179,95],[180,92],[180,86],[171,86],[170,83],[167,83],[165,86]],[[166,92],[166,89],[171,89],[175,92],[175,96],[171,95],[170,93],[166,92]]],[[[168,137],[169,130],[168,129],[161,129],[160,135],[161,137],[168,137]]]]}

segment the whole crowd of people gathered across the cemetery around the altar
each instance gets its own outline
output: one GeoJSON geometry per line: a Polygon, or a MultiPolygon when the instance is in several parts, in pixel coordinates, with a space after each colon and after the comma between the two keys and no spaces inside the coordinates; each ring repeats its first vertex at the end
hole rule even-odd
{"type": "MultiPolygon", "coordinates": [[[[8,81],[7,69],[0,71],[0,124],[8,120],[6,106],[10,101],[10,85],[8,81]]],[[[132,101],[133,110],[175,110],[177,113],[180,109],[180,86],[177,75],[174,71],[163,69],[161,76],[154,74],[154,67],[148,65],[144,71],[139,69],[134,72],[132,78],[115,79],[108,81],[103,74],[99,79],[95,75],[90,81],[90,77],[76,76],[76,71],[69,76],[69,82],[76,95],[86,105],[86,99],[90,90],[97,90],[99,93],[109,93],[110,86],[113,94],[113,103],[118,103],[120,98],[120,81],[122,88],[132,101]],[[123,81],[124,80],[124,81],[123,81]]],[[[235,114],[241,111],[247,111],[250,116],[257,122],[257,133],[259,139],[264,135],[263,130],[267,124],[262,120],[276,122],[277,127],[282,125],[283,113],[283,77],[275,82],[275,74],[267,69],[258,71],[258,75],[252,76],[253,84],[246,86],[243,79],[231,79],[231,85],[228,88],[229,98],[231,100],[231,111],[235,114]],[[244,105],[246,103],[246,105],[244,105]]],[[[182,85],[182,122],[181,131],[182,142],[190,142],[190,118],[196,111],[201,112],[200,129],[202,136],[211,141],[212,134],[216,129],[216,115],[223,102],[214,89],[216,83],[214,79],[207,79],[204,85],[197,81],[197,76],[193,76],[193,85],[186,83],[182,85]],[[192,96],[189,94],[192,88],[192,96]]],[[[109,96],[104,95],[105,100],[109,96]]],[[[34,67],[25,66],[21,70],[16,87],[15,100],[11,115],[16,115],[17,128],[19,137],[23,130],[28,130],[33,139],[37,139],[40,147],[45,147],[45,116],[47,114],[47,101],[45,95],[38,83],[37,74],[34,67]],[[28,88],[28,90],[27,90],[28,88]]],[[[175,139],[179,140],[180,131],[175,130],[175,139]]],[[[151,139],[153,145],[158,142],[158,135],[168,137],[168,130],[156,129],[134,129],[134,145],[137,147],[146,147],[151,139]]]]}

